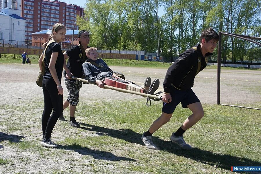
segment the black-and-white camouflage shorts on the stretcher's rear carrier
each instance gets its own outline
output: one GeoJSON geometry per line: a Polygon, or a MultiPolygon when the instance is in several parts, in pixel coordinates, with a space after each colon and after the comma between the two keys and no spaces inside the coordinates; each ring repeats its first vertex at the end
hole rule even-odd
{"type": "Polygon", "coordinates": [[[81,81],[64,77],[64,82],[68,91],[67,101],[71,106],[77,106],[79,102],[80,89],[82,87],[81,81]]]}

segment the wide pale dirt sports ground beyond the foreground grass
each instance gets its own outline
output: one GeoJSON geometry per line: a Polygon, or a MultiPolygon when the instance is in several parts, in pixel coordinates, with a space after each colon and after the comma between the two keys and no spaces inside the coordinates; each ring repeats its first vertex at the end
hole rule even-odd
{"type": "MultiPolygon", "coordinates": [[[[160,79],[159,91],[163,90],[162,84],[166,69],[114,67],[115,71],[122,72],[126,79],[143,82],[147,76],[152,81],[160,79]]],[[[42,89],[35,83],[38,65],[0,64],[0,91],[2,104],[15,104],[18,101],[30,101],[36,97],[42,97],[42,89]],[[29,91],[29,92],[28,92],[29,91]],[[30,95],[28,95],[30,93],[30,95]]],[[[66,86],[62,80],[64,97],[67,95],[66,86]]],[[[221,70],[221,104],[248,104],[259,106],[261,98],[261,71],[253,70],[221,70]]],[[[195,78],[193,91],[204,104],[216,104],[217,102],[217,70],[205,69],[195,78]]],[[[83,84],[80,92],[80,100],[92,98],[100,99],[133,99],[140,96],[119,93],[113,90],[100,89],[91,84],[83,84]]]]}

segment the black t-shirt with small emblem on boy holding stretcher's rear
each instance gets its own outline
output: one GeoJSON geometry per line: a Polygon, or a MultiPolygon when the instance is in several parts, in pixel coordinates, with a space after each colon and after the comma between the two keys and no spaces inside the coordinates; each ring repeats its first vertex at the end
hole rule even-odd
{"type": "MultiPolygon", "coordinates": [[[[89,48],[89,47],[87,47],[89,48]]],[[[83,58],[83,52],[81,51],[79,46],[72,46],[66,51],[66,54],[68,55],[69,59],[67,62],[67,67],[70,70],[70,72],[75,77],[81,77],[82,71],[81,67],[86,60],[88,60],[87,56],[85,55],[85,59],[83,58]]],[[[84,52],[85,54],[85,52],[84,52]]],[[[64,71],[64,75],[66,75],[66,71],[64,71]]]]}

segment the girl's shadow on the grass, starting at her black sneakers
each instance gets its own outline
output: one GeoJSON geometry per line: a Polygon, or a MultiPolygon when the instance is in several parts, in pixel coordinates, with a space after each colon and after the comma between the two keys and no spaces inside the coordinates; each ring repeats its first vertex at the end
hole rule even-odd
{"type": "Polygon", "coordinates": [[[108,160],[108,161],[136,161],[133,160],[131,158],[126,158],[126,157],[118,157],[116,155],[114,155],[113,153],[110,152],[106,152],[106,151],[95,151],[92,150],[88,147],[82,147],[78,144],[74,144],[74,145],[69,145],[69,146],[59,146],[59,149],[64,149],[64,150],[70,150],[70,151],[75,151],[81,155],[90,155],[92,156],[94,159],[97,160],[108,160]]]}

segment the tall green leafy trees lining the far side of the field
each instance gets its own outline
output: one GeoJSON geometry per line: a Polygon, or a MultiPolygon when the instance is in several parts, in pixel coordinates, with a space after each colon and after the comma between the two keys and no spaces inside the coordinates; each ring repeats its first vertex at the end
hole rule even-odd
{"type": "MultiPolygon", "coordinates": [[[[160,36],[160,53],[169,61],[197,44],[200,32],[209,27],[257,37],[261,33],[260,3],[251,0],[88,0],[85,12],[88,20],[77,20],[80,29],[91,31],[90,46],[157,52],[160,36]],[[162,17],[160,6],[166,10],[162,17]]],[[[222,60],[257,60],[246,54],[253,47],[222,37],[222,60]]]]}

